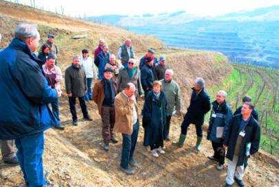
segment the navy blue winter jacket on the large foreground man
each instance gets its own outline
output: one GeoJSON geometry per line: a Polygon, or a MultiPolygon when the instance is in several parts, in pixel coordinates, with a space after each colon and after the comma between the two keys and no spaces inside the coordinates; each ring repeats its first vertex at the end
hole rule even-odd
{"type": "Polygon", "coordinates": [[[47,84],[41,62],[19,38],[0,52],[0,139],[43,132],[58,125],[47,104],[57,92],[47,84]]]}

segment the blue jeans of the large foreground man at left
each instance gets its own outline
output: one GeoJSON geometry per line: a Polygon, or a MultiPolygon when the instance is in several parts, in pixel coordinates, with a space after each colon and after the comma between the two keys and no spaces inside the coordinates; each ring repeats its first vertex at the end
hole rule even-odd
{"type": "Polygon", "coordinates": [[[14,142],[18,149],[16,156],[28,187],[44,186],[46,182],[43,175],[43,132],[16,138],[14,142]]]}

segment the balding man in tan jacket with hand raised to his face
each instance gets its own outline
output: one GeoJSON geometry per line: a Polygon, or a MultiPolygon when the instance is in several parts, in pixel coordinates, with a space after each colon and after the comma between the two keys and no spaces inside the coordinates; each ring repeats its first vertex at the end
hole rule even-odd
{"type": "Polygon", "coordinates": [[[139,134],[138,109],[135,100],[135,85],[126,84],[124,90],[115,97],[115,132],[122,133],[122,156],[120,169],[128,175],[134,171],[129,167],[137,166],[133,159],[137,135],[139,134]]]}

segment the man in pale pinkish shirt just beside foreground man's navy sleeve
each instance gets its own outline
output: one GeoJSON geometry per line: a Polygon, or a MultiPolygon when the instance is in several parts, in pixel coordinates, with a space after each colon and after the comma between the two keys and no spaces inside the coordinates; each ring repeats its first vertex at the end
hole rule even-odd
{"type": "MultiPolygon", "coordinates": [[[[49,53],[47,55],[47,60],[45,64],[43,64],[43,73],[45,73],[45,78],[47,79],[47,84],[50,88],[55,88],[58,94],[58,98],[61,97],[62,91],[60,88],[60,82],[62,81],[62,72],[58,66],[55,64],[55,55],[53,53],[49,53]]],[[[52,101],[50,103],[52,105],[52,113],[58,120],[58,124],[54,125],[54,128],[63,130],[64,127],[61,126],[59,119],[59,99],[52,101]]]]}

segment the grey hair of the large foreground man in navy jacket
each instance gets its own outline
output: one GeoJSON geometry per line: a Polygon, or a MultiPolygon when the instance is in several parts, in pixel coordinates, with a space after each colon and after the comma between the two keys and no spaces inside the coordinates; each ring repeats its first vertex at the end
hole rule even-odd
{"type": "Polygon", "coordinates": [[[40,37],[40,34],[38,33],[36,25],[30,23],[21,23],[14,30],[14,37],[24,41],[27,38],[38,38],[40,37]]]}

